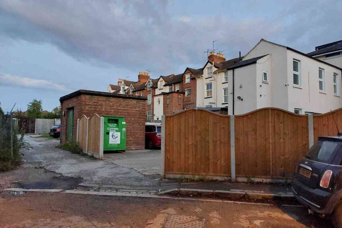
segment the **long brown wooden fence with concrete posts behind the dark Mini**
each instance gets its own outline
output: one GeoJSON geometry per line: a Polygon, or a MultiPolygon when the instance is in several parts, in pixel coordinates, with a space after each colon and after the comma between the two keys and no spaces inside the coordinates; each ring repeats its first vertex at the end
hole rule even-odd
{"type": "Polygon", "coordinates": [[[337,135],[332,115],[342,130],[342,108],[314,116],[278,108],[237,116],[193,108],[165,116],[162,176],[290,179],[313,138],[337,135]]]}

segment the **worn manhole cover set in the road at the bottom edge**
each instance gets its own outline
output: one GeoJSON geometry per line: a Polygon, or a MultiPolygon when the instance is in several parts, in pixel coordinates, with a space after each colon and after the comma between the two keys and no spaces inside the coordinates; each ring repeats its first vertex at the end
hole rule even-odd
{"type": "Polygon", "coordinates": [[[165,228],[205,228],[205,225],[205,218],[186,215],[169,215],[165,228]]]}

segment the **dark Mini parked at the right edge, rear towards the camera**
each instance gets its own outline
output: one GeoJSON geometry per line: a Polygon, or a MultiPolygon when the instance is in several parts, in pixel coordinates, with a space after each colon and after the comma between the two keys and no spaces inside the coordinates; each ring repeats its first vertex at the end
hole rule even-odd
{"type": "Polygon", "coordinates": [[[297,165],[292,191],[321,217],[331,215],[342,227],[342,136],[318,137],[297,165]]]}

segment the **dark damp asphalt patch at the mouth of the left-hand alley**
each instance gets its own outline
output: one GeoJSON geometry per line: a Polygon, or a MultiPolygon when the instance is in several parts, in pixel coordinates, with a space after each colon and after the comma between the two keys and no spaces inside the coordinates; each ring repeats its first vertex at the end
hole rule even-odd
{"type": "Polygon", "coordinates": [[[31,189],[75,189],[83,178],[80,177],[65,177],[59,173],[46,172],[43,178],[25,180],[16,183],[20,188],[31,189]]]}

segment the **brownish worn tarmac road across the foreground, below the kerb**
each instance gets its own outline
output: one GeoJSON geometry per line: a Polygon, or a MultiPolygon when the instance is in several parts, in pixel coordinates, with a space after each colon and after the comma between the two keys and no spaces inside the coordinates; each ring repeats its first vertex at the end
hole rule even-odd
{"type": "Polygon", "coordinates": [[[330,228],[303,207],[25,192],[0,195],[2,228],[330,228]]]}

